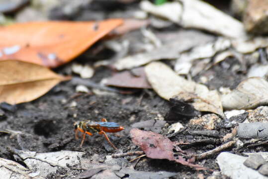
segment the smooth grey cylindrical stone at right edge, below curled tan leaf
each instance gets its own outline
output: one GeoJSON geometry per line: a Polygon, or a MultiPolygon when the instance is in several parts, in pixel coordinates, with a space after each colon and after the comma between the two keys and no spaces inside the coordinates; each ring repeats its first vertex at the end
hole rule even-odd
{"type": "Polygon", "coordinates": [[[240,123],[237,129],[237,135],[239,138],[244,139],[268,137],[268,123],[240,123]]]}

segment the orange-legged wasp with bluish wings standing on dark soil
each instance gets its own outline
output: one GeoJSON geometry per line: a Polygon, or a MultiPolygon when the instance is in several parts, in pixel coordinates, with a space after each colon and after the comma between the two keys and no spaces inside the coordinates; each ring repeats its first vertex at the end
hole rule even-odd
{"type": "Polygon", "coordinates": [[[86,134],[93,135],[94,133],[98,133],[101,135],[104,135],[105,139],[109,142],[109,144],[114,148],[117,149],[113,143],[111,143],[110,139],[108,138],[106,132],[119,132],[121,130],[124,130],[124,127],[118,125],[115,122],[107,122],[105,118],[101,119],[101,122],[93,122],[93,121],[77,121],[74,123],[75,126],[75,132],[76,132],[76,139],[78,139],[78,131],[84,133],[83,139],[80,144],[80,147],[82,147],[84,140],[86,138],[86,134]]]}

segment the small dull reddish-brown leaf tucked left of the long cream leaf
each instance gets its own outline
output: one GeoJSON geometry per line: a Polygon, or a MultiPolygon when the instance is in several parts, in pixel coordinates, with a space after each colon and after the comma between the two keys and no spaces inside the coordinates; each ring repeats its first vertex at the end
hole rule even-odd
{"type": "Polygon", "coordinates": [[[108,86],[123,87],[123,88],[142,88],[151,89],[151,85],[146,80],[144,68],[136,68],[132,71],[119,72],[107,79],[104,83],[108,86]]]}

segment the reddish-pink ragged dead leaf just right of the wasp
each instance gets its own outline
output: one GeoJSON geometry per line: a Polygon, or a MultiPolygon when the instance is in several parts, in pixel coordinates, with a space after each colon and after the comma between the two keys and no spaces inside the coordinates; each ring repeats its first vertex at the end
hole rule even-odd
{"type": "Polygon", "coordinates": [[[194,167],[196,170],[206,170],[205,168],[191,164],[187,162],[182,156],[186,154],[182,153],[179,147],[176,147],[176,144],[172,142],[169,138],[157,134],[151,131],[142,131],[137,128],[133,128],[130,131],[130,136],[132,142],[135,145],[138,145],[146,154],[147,157],[151,159],[168,159],[170,161],[176,161],[182,165],[194,167]],[[181,155],[174,157],[174,149],[179,149],[181,155]]]}

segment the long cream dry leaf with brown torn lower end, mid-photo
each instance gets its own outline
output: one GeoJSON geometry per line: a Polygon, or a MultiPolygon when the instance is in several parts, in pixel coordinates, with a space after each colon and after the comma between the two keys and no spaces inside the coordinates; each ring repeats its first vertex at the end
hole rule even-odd
{"type": "Polygon", "coordinates": [[[161,62],[153,62],[145,67],[147,79],[153,89],[164,99],[193,100],[196,110],[209,111],[225,116],[219,94],[206,86],[179,77],[170,67],[161,62]]]}

